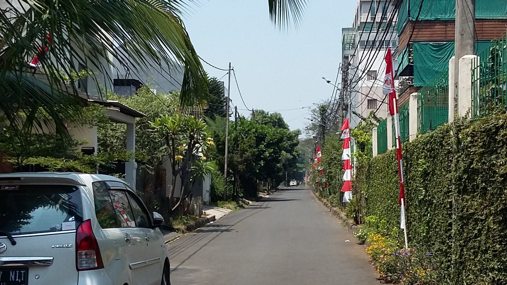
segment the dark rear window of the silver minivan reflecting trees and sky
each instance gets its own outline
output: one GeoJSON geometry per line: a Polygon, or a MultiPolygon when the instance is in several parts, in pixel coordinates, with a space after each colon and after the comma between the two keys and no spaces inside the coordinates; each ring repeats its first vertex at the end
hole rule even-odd
{"type": "Polygon", "coordinates": [[[75,230],[82,221],[76,186],[20,185],[0,190],[0,231],[19,235],[75,230]]]}

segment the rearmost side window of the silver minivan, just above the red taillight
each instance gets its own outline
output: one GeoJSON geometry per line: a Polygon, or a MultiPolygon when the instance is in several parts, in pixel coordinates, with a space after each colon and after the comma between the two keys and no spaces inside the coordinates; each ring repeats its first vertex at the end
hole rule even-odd
{"type": "Polygon", "coordinates": [[[95,200],[95,216],[103,229],[117,228],[116,212],[113,201],[103,181],[93,182],[93,198],[95,200]]]}

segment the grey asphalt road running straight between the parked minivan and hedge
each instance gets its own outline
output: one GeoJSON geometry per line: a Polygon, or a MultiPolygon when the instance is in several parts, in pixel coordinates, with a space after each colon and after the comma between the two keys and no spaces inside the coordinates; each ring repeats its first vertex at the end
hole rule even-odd
{"type": "Polygon", "coordinates": [[[364,247],[304,187],[182,236],[169,252],[172,285],[379,283],[364,247]]]}

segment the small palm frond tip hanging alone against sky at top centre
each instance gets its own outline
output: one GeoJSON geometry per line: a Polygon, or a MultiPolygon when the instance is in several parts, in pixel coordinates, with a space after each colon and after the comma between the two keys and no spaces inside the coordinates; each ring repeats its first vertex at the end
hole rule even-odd
{"type": "Polygon", "coordinates": [[[296,27],[301,22],[306,7],[306,0],[268,0],[271,21],[280,29],[287,29],[293,23],[296,27]]]}

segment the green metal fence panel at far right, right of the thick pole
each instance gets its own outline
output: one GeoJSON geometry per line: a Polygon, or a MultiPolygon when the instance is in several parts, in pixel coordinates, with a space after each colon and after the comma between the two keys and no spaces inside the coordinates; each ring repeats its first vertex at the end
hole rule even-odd
{"type": "Polygon", "coordinates": [[[507,37],[472,61],[472,117],[491,114],[507,106],[507,37]]]}

